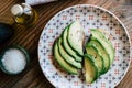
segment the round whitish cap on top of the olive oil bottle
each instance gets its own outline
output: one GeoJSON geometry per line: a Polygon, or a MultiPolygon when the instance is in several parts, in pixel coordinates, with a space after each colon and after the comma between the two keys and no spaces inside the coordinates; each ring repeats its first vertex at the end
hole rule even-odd
{"type": "Polygon", "coordinates": [[[20,4],[15,4],[11,8],[13,15],[21,15],[23,13],[23,8],[20,4]]]}

